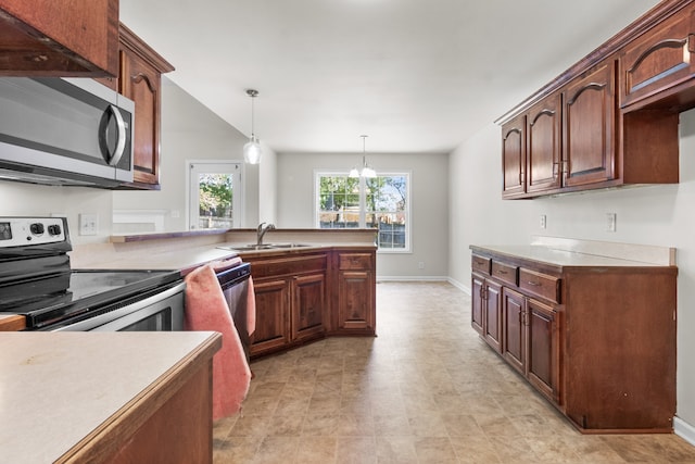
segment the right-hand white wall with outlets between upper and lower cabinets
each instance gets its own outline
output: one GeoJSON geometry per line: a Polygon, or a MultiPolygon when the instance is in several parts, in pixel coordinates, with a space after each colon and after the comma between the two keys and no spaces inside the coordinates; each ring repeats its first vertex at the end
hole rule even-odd
{"type": "Polygon", "coordinates": [[[470,284],[470,244],[529,243],[531,235],[675,247],[678,277],[678,405],[695,425],[695,111],[681,114],[678,185],[604,190],[535,200],[501,199],[501,129],[490,124],[450,161],[450,275],[470,284]],[[606,213],[617,231],[606,231],[606,213]],[[547,215],[542,230],[539,216],[547,215]]]}

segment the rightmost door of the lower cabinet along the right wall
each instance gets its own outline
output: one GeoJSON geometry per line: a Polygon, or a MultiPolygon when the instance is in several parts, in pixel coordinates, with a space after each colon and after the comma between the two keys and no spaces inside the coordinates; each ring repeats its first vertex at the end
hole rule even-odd
{"type": "Polygon", "coordinates": [[[559,341],[556,313],[539,301],[529,299],[527,376],[541,393],[559,401],[559,341]]]}

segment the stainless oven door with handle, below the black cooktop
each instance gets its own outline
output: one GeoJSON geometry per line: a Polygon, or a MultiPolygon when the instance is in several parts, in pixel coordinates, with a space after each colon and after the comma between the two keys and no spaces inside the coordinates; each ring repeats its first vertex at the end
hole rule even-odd
{"type": "Polygon", "coordinates": [[[179,283],[162,292],[51,331],[179,331],[184,330],[184,292],[179,283]]]}

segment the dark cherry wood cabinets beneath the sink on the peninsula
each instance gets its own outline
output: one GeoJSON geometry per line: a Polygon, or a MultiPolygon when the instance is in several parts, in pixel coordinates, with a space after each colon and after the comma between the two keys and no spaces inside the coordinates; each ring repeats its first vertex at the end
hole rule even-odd
{"type": "Polygon", "coordinates": [[[326,335],[375,335],[375,250],[257,252],[244,261],[251,264],[256,299],[252,356],[326,335]]]}

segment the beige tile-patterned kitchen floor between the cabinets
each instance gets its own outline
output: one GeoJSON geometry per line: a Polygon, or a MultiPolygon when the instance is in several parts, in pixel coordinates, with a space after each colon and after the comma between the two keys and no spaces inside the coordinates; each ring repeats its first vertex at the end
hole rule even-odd
{"type": "Polygon", "coordinates": [[[579,434],[470,328],[445,283],[377,285],[377,338],[252,363],[215,463],[695,463],[675,435],[579,434]]]}

